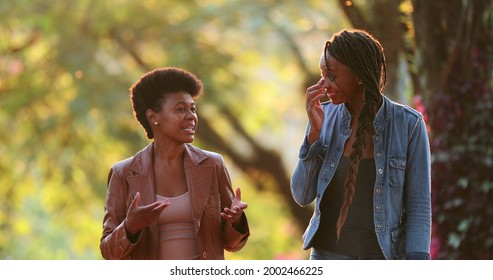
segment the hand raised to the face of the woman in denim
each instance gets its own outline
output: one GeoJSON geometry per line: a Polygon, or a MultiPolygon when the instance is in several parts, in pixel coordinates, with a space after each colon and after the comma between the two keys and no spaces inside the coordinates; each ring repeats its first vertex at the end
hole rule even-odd
{"type": "Polygon", "coordinates": [[[324,79],[321,78],[317,84],[306,89],[305,109],[310,122],[310,131],[307,138],[308,144],[312,144],[320,138],[320,131],[324,122],[324,109],[322,108],[322,104],[320,104],[320,99],[326,96],[323,83],[324,79]]]}

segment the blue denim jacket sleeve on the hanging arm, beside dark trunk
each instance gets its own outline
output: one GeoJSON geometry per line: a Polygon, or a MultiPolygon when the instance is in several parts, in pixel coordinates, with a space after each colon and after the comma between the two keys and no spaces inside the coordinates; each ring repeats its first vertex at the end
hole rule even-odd
{"type": "Polygon", "coordinates": [[[422,116],[411,127],[406,165],[406,259],[430,259],[431,154],[422,116]]]}

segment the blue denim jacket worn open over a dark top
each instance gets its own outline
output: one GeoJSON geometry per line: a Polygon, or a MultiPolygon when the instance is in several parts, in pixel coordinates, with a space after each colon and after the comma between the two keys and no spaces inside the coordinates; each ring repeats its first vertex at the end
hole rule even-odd
{"type": "MultiPolygon", "coordinates": [[[[316,201],[303,235],[305,250],[313,245],[321,198],[351,135],[351,115],[344,104],[328,103],[324,112],[320,139],[308,145],[305,136],[291,177],[291,192],[300,206],[316,201]]],[[[430,259],[431,156],[423,117],[384,96],[374,127],[373,214],[380,248],[386,259],[430,259]]]]}

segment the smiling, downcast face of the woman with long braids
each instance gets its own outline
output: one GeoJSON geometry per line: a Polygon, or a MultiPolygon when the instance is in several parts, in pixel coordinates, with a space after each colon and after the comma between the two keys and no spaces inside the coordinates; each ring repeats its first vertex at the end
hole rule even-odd
{"type": "Polygon", "coordinates": [[[320,58],[322,87],[327,89],[327,94],[332,103],[360,103],[364,101],[364,87],[359,83],[358,76],[330,54],[327,56],[327,62],[322,54],[320,58]]]}

